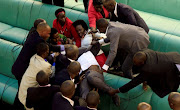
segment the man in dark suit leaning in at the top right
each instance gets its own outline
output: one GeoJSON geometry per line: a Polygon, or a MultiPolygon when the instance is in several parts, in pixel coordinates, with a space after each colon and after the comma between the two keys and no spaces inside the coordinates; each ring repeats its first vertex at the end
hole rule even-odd
{"type": "Polygon", "coordinates": [[[111,12],[111,21],[119,21],[125,24],[131,24],[143,28],[147,33],[149,28],[139,14],[130,6],[117,3],[115,0],[104,0],[104,7],[111,12]]]}

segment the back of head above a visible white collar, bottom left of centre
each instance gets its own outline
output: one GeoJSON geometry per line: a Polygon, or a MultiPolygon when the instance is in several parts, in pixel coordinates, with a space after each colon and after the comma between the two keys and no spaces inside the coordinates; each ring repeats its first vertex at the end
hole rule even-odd
{"type": "Polygon", "coordinates": [[[61,84],[60,91],[62,95],[71,99],[75,93],[75,84],[71,80],[66,80],[61,84]]]}

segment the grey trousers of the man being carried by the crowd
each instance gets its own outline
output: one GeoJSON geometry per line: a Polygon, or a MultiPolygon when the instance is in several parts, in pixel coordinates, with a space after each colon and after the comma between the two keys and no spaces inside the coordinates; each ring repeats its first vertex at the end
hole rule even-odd
{"type": "Polygon", "coordinates": [[[89,70],[85,73],[85,79],[80,84],[80,96],[86,99],[87,94],[89,91],[96,87],[103,92],[108,92],[111,87],[109,87],[104,82],[104,76],[96,71],[89,70]]]}

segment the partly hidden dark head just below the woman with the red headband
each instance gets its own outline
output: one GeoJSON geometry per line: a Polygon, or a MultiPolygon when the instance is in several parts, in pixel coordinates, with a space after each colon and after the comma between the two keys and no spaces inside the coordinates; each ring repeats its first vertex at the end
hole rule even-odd
{"type": "Polygon", "coordinates": [[[54,45],[57,45],[57,42],[60,40],[59,33],[55,28],[51,28],[51,34],[49,40],[54,45]]]}

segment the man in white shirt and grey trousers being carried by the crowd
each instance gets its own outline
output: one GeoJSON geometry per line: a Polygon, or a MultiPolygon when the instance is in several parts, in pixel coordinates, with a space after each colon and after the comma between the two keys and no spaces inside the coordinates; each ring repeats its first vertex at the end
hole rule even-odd
{"type": "MultiPolygon", "coordinates": [[[[86,99],[87,94],[89,91],[96,87],[99,90],[102,90],[106,93],[109,91],[114,90],[113,88],[109,87],[104,82],[103,71],[101,70],[98,62],[96,61],[93,53],[91,51],[87,51],[83,53],[79,58],[78,62],[81,64],[82,71],[85,71],[85,79],[82,80],[80,84],[80,96],[83,99],[86,99]],[[93,87],[91,87],[93,86],[93,87]]],[[[112,99],[114,103],[119,106],[120,99],[118,95],[113,95],[112,99]]]]}

